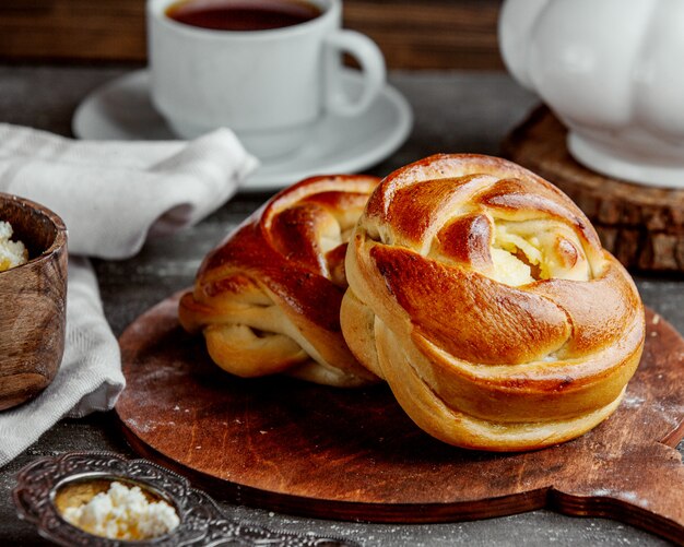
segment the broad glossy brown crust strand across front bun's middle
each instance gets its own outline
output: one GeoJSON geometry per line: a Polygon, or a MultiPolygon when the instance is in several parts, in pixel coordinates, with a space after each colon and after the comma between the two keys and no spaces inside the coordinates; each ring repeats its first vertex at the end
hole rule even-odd
{"type": "Polygon", "coordinates": [[[402,248],[374,246],[369,253],[414,330],[453,357],[528,362],[555,352],[570,334],[564,311],[543,296],[402,248]],[[483,325],[487,336],[482,335],[483,325]]]}

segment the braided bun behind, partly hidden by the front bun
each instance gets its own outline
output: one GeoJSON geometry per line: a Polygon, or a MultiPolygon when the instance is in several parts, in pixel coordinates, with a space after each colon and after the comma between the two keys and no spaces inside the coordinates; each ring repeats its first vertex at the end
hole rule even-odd
{"type": "Polygon", "coordinates": [[[346,242],[378,182],[314,177],[273,197],[207,255],[180,299],[180,324],[202,331],[211,358],[240,377],[377,381],[342,337],[340,304],[346,242]]]}

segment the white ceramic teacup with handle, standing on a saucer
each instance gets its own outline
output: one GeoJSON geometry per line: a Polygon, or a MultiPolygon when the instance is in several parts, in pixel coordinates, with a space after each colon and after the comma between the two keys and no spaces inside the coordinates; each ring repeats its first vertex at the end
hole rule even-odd
{"type": "Polygon", "coordinates": [[[170,19],[177,0],[148,0],[151,96],[170,128],[191,139],[227,127],[263,158],[298,148],[326,112],[368,109],[385,85],[382,53],[367,36],[341,28],[340,0],[307,1],[321,11],[310,21],[219,31],[170,19]],[[342,53],[361,66],[357,97],[342,88],[342,53]]]}

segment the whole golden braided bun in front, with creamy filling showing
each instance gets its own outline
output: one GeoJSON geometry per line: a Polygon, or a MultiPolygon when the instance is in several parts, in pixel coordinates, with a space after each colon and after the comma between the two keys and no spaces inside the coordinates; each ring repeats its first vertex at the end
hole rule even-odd
{"type": "Polygon", "coordinates": [[[342,331],[429,435],[522,451],[618,406],[644,346],[627,272],[558,189],[504,159],[388,176],[346,254],[342,331]]]}

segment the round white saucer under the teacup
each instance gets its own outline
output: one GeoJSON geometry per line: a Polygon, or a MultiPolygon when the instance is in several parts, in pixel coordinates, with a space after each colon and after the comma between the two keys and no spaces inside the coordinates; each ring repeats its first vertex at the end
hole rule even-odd
{"type": "MultiPolygon", "coordinates": [[[[343,73],[350,94],[361,76],[343,73]]],[[[73,133],[93,140],[177,139],[149,97],[149,73],[139,70],[91,93],[76,108],[73,133]]],[[[394,152],[409,136],[413,115],[406,99],[386,85],[368,111],[358,117],[326,116],[308,143],[286,157],[262,162],[246,182],[247,190],[272,190],[311,175],[358,173],[394,152]]]]}

